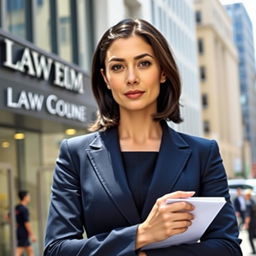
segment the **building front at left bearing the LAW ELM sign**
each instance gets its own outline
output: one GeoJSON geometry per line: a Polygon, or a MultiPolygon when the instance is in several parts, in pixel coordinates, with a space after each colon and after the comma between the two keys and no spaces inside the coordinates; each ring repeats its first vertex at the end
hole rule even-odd
{"type": "Polygon", "coordinates": [[[15,255],[20,189],[31,194],[41,255],[59,144],[86,133],[95,119],[91,14],[92,1],[85,0],[0,2],[0,255],[15,255]]]}

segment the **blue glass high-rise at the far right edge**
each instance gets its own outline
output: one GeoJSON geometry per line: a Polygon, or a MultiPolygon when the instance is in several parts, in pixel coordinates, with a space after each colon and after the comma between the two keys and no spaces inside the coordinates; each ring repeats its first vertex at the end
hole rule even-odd
{"type": "Polygon", "coordinates": [[[243,114],[244,138],[251,145],[252,173],[256,177],[256,67],[253,30],[242,3],[225,6],[233,24],[233,40],[239,56],[240,99],[243,114]]]}

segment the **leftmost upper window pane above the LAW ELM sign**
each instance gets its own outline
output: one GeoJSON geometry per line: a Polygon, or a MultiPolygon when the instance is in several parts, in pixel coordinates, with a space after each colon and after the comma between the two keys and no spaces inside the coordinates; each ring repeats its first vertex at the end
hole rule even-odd
{"type": "Polygon", "coordinates": [[[25,0],[6,1],[6,28],[18,37],[26,38],[25,0]]]}

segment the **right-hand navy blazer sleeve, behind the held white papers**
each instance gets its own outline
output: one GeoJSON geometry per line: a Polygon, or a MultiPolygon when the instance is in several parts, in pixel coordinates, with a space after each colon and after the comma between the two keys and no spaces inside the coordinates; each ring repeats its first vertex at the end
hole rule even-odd
{"type": "MultiPolygon", "coordinates": [[[[198,196],[225,197],[226,204],[200,239],[200,243],[184,244],[145,251],[148,256],[240,256],[238,228],[228,192],[227,177],[217,143],[212,140],[209,157],[201,176],[198,196]]],[[[206,213],[207,214],[207,213],[206,213]]]]}

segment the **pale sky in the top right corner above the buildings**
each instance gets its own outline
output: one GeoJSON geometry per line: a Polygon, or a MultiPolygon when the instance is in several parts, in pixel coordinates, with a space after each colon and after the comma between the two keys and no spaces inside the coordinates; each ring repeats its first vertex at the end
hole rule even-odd
{"type": "Polygon", "coordinates": [[[222,4],[243,3],[253,26],[254,51],[256,50],[256,0],[220,0],[222,4]]]}

